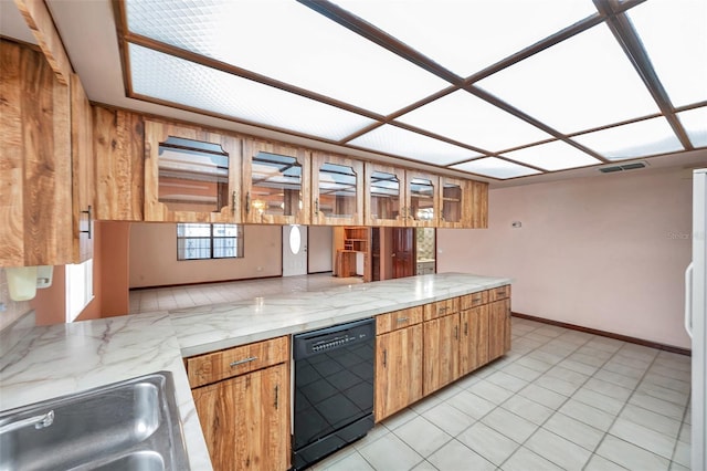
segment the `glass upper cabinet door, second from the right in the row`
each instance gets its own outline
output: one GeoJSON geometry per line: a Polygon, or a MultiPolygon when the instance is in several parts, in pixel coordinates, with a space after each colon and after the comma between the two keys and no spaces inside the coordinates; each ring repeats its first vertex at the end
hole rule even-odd
{"type": "Polygon", "coordinates": [[[439,216],[437,185],[435,175],[408,170],[408,193],[404,209],[405,226],[433,228],[439,216]]]}

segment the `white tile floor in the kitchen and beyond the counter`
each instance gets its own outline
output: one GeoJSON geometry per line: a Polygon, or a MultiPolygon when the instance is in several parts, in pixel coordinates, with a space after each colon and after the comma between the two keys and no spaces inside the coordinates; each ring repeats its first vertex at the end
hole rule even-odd
{"type": "MultiPolygon", "coordinates": [[[[329,274],[130,293],[130,312],[359,283],[329,274]]],[[[319,470],[687,470],[690,359],[513,318],[508,355],[376,426],[319,470]]]]}

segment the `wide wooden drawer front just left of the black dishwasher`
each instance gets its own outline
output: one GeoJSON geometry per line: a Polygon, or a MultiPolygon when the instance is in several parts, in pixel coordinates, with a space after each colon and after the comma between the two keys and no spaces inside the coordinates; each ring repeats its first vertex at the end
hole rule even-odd
{"type": "Polygon", "coordinates": [[[187,358],[187,376],[189,385],[196,388],[284,363],[288,358],[289,337],[283,336],[187,358]]]}

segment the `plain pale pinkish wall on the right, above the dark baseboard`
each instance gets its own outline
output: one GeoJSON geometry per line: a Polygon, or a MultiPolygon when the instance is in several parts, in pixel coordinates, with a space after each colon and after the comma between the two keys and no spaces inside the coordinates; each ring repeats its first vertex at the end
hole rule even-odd
{"type": "Polygon", "coordinates": [[[437,271],[513,278],[514,312],[689,348],[690,172],[493,189],[488,226],[437,230],[437,271]]]}

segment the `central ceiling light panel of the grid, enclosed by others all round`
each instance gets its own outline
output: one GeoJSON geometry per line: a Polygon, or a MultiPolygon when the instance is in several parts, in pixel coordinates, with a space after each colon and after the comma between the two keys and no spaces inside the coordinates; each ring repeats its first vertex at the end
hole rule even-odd
{"type": "Polygon", "coordinates": [[[552,137],[465,91],[435,100],[399,121],[490,151],[552,137]]]}

